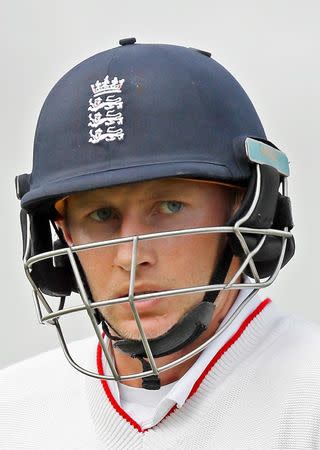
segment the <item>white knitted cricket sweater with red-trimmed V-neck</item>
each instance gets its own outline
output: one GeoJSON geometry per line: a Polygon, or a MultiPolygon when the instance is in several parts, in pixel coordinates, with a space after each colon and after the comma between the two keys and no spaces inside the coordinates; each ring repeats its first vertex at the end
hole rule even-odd
{"type": "MultiPolygon", "coordinates": [[[[93,345],[73,350],[85,357],[93,345]]],[[[272,303],[244,320],[182,408],[147,431],[107,383],[76,372],[59,350],[3,370],[0,380],[1,450],[320,448],[320,330],[272,303]]]]}

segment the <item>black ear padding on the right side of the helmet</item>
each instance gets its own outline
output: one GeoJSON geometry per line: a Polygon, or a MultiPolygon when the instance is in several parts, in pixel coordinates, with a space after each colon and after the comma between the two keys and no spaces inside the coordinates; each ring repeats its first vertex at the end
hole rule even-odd
{"type": "MultiPolygon", "coordinates": [[[[275,228],[284,229],[293,226],[290,199],[279,193],[280,175],[276,169],[271,166],[261,165],[261,190],[257,205],[248,219],[241,224],[242,227],[248,228],[275,228]]],[[[243,217],[249,210],[256,187],[256,172],[250,179],[247,193],[241,207],[229,221],[228,225],[235,225],[236,222],[243,217]]],[[[252,251],[259,243],[262,235],[259,234],[243,234],[247,246],[252,251]]],[[[271,276],[278,264],[281,254],[282,237],[267,236],[261,249],[253,257],[260,278],[271,276]]],[[[244,258],[244,251],[236,235],[229,236],[230,246],[235,256],[244,258]]],[[[295,250],[294,239],[288,239],[282,267],[292,258],[295,250]]],[[[245,274],[252,277],[250,266],[248,265],[245,274]]]]}

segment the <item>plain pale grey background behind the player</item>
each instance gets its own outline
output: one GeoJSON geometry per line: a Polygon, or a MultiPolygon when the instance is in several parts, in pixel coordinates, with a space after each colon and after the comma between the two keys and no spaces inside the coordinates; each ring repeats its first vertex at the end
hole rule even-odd
{"type": "MultiPolygon", "coordinates": [[[[317,0],[1,2],[0,367],[57,345],[54,330],[37,324],[21,263],[14,189],[15,175],[32,168],[40,108],[67,70],[131,36],[207,50],[247,91],[269,139],[291,162],[296,256],[265,295],[320,323],[319,23],[317,0]]],[[[79,324],[69,333],[77,338],[86,330],[79,324]]]]}

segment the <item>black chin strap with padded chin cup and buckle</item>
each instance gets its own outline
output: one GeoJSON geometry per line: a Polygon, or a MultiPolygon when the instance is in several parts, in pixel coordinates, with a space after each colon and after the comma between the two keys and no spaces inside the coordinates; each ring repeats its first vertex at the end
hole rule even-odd
{"type": "MultiPolygon", "coordinates": [[[[233,253],[227,244],[214,271],[210,284],[222,284],[227,276],[233,253]]],[[[161,336],[148,339],[148,343],[154,358],[160,358],[175,353],[188,344],[194,342],[209,326],[215,309],[214,302],[220,291],[207,291],[201,303],[188,311],[170,330],[161,336]]],[[[138,339],[123,339],[114,336],[109,331],[110,324],[102,321],[103,331],[109,339],[114,341],[114,348],[137,358],[142,364],[143,371],[151,369],[142,341],[138,339]]],[[[151,375],[142,379],[142,387],[145,389],[160,389],[160,379],[157,375],[151,375]]]]}

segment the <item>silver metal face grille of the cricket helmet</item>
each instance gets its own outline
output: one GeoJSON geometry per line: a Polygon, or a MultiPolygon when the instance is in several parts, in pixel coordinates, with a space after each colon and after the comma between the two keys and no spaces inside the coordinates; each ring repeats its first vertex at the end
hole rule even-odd
{"type": "MultiPolygon", "coordinates": [[[[59,250],[53,250],[46,253],[42,253],[30,258],[25,259],[24,265],[25,265],[25,271],[28,280],[30,281],[33,289],[34,294],[34,301],[36,306],[36,311],[38,315],[38,319],[40,323],[42,324],[50,324],[54,325],[56,327],[58,337],[60,340],[60,343],[62,345],[62,348],[64,350],[64,353],[70,362],[70,364],[75,367],[80,372],[99,379],[106,379],[106,380],[129,380],[129,379],[135,379],[135,378],[141,378],[141,377],[147,377],[150,375],[159,375],[161,372],[166,371],[168,369],[171,369],[172,367],[175,367],[186,360],[194,357],[196,354],[201,352],[207,345],[210,344],[214,339],[216,339],[223,331],[232,323],[232,321],[237,317],[237,315],[240,313],[242,308],[248,303],[248,301],[256,294],[256,292],[261,289],[269,286],[277,277],[280,268],[283,263],[286,245],[288,239],[292,237],[292,234],[288,231],[287,228],[284,230],[277,230],[277,229],[257,229],[257,228],[248,228],[242,226],[243,223],[246,222],[247,218],[250,217],[252,211],[254,210],[257,201],[259,199],[260,195],[260,186],[261,186],[261,180],[260,180],[260,171],[259,171],[259,165],[256,166],[257,168],[257,186],[256,191],[254,195],[254,199],[252,202],[252,205],[249,209],[249,211],[243,216],[240,220],[237,221],[237,223],[234,226],[221,226],[221,227],[204,227],[204,228],[191,228],[191,229],[180,229],[175,231],[166,231],[161,233],[153,233],[153,234],[145,234],[145,235],[139,235],[139,236],[130,236],[130,237],[124,237],[119,239],[113,239],[113,240],[107,240],[107,241],[101,241],[101,242],[94,242],[89,244],[83,244],[83,245],[77,245],[72,247],[67,247],[59,250]],[[161,292],[153,292],[153,293],[145,293],[145,294],[139,294],[135,295],[135,279],[136,279],[136,268],[137,268],[137,252],[139,248],[139,243],[143,241],[151,241],[154,239],[174,239],[178,236],[184,236],[184,235],[195,235],[195,234],[235,234],[236,237],[239,240],[239,243],[243,249],[244,252],[244,258],[243,261],[239,267],[239,269],[236,271],[236,273],[232,276],[232,279],[226,283],[223,284],[213,284],[213,285],[199,285],[199,286],[192,286],[192,287],[184,287],[181,289],[172,289],[167,291],[161,291],[161,292]],[[249,250],[248,246],[246,244],[244,235],[258,235],[258,244],[253,250],[249,250]],[[275,236],[282,240],[282,248],[280,252],[280,256],[277,262],[277,265],[275,267],[274,272],[272,275],[270,275],[267,279],[261,279],[259,276],[259,272],[257,270],[257,267],[254,263],[253,257],[255,254],[261,249],[263,246],[265,239],[267,236],[275,236]],[[80,254],[81,252],[86,252],[92,249],[98,249],[98,248],[104,248],[104,247],[111,247],[111,246],[117,246],[121,245],[123,243],[131,243],[132,244],[132,254],[131,254],[131,271],[130,271],[130,282],[129,282],[129,292],[128,295],[125,297],[120,298],[110,298],[105,299],[98,302],[93,302],[92,299],[88,297],[88,293],[86,292],[77,260],[75,258],[75,255],[80,254]],[[54,303],[55,306],[52,306],[52,302],[47,298],[48,296],[44,295],[43,292],[38,288],[36,283],[34,282],[32,278],[32,268],[35,264],[39,263],[40,261],[44,261],[46,259],[54,259],[59,256],[67,256],[69,258],[74,277],[78,286],[78,290],[80,293],[81,298],[81,304],[76,306],[66,306],[64,302],[60,303],[60,306],[56,306],[56,301],[54,303]],[[243,280],[243,273],[245,268],[249,266],[251,269],[251,273],[253,275],[253,281],[252,282],[239,282],[239,279],[243,280]],[[164,298],[164,297],[173,297],[173,296],[183,296],[191,293],[205,293],[207,291],[222,291],[222,290],[239,290],[244,288],[251,288],[250,294],[245,298],[245,300],[242,302],[242,304],[238,307],[238,309],[232,314],[232,316],[229,318],[229,320],[224,324],[223,327],[219,329],[219,331],[211,336],[209,339],[207,339],[204,343],[199,345],[196,349],[193,351],[187,353],[186,355],[177,358],[175,361],[170,362],[168,364],[164,365],[158,365],[156,358],[154,358],[148,338],[146,336],[145,330],[143,328],[142,321],[140,320],[139,313],[136,308],[136,304],[140,301],[144,300],[150,300],[153,298],[164,298]],[[140,339],[142,341],[143,347],[145,349],[145,353],[147,355],[149,364],[151,369],[140,372],[140,373],[132,373],[129,375],[120,375],[117,371],[116,365],[114,363],[113,359],[113,352],[112,352],[112,345],[109,345],[110,342],[106,341],[102,330],[100,326],[98,325],[98,322],[96,320],[95,310],[101,307],[108,307],[111,305],[121,304],[121,303],[127,303],[130,305],[133,317],[135,319],[137,329],[139,330],[140,339]],[[106,362],[109,367],[110,375],[100,375],[96,372],[93,372],[91,370],[88,370],[85,367],[82,367],[79,365],[73,358],[73,356],[69,352],[69,346],[65,340],[64,333],[62,331],[62,327],[60,324],[60,320],[69,315],[75,315],[80,312],[84,312],[88,318],[89,321],[93,327],[94,333],[97,336],[97,339],[101,345],[102,352],[105,356],[106,362]]],[[[287,186],[285,183],[285,180],[283,182],[283,192],[287,194],[287,186]]],[[[27,253],[27,252],[26,252],[27,253]]]]}

